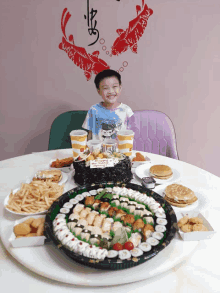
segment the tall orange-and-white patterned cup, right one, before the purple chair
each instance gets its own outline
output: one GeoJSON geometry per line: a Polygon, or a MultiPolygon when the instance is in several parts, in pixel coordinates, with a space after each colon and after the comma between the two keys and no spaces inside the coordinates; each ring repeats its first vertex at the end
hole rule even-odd
{"type": "Polygon", "coordinates": [[[132,155],[134,132],[132,130],[120,130],[118,132],[118,150],[126,156],[132,155]]]}

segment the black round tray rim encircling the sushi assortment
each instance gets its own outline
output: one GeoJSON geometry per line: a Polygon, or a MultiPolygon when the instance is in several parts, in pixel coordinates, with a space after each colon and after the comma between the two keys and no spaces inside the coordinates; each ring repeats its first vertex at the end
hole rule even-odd
{"type": "Polygon", "coordinates": [[[59,249],[61,253],[64,253],[66,256],[68,256],[70,259],[79,262],[83,265],[90,266],[96,269],[105,269],[105,270],[121,270],[121,269],[127,269],[134,266],[137,266],[139,264],[142,264],[155,255],[157,255],[161,250],[163,250],[174,238],[174,235],[177,231],[177,218],[175,215],[175,212],[173,208],[170,206],[169,203],[167,203],[159,194],[155,193],[154,191],[147,189],[145,187],[142,187],[140,185],[136,185],[133,183],[114,183],[114,182],[108,182],[108,183],[102,183],[102,184],[91,184],[91,185],[85,185],[80,186],[74,189],[69,190],[68,192],[64,193],[58,200],[56,200],[48,210],[48,213],[45,218],[45,231],[44,234],[47,238],[47,240],[52,240],[53,244],[59,249]],[[166,219],[168,221],[166,228],[166,236],[163,240],[163,242],[155,247],[152,247],[152,249],[149,252],[144,252],[143,255],[139,257],[131,257],[127,260],[120,260],[119,258],[105,258],[103,261],[91,259],[88,257],[85,257],[83,255],[79,255],[74,253],[73,251],[70,251],[67,249],[63,244],[57,239],[53,232],[53,220],[55,219],[56,215],[59,213],[60,209],[63,207],[64,203],[68,202],[71,198],[74,198],[77,194],[81,194],[86,191],[90,191],[92,189],[98,189],[98,188],[105,188],[105,187],[126,187],[131,188],[140,192],[144,192],[147,194],[147,196],[153,197],[157,202],[160,203],[160,205],[164,208],[166,212],[166,219]]]}

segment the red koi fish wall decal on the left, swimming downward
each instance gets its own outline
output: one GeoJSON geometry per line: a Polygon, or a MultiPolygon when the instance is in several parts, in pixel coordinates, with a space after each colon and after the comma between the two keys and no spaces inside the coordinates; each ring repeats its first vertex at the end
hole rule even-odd
{"type": "Polygon", "coordinates": [[[66,37],[66,25],[70,17],[71,14],[68,12],[68,9],[65,8],[61,17],[63,38],[62,42],[59,44],[59,49],[64,50],[74,64],[84,70],[86,79],[90,80],[92,73],[98,74],[110,67],[105,61],[98,58],[99,51],[94,51],[92,54],[89,54],[86,52],[85,48],[75,46],[73,35],[70,35],[69,39],[66,37]]]}

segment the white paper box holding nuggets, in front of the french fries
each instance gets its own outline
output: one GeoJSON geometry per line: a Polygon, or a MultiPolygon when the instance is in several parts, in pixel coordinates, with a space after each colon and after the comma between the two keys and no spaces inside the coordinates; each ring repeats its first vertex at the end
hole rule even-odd
{"type": "MultiPolygon", "coordinates": [[[[20,220],[15,221],[14,226],[16,226],[17,224],[23,223],[24,221],[26,221],[29,218],[34,218],[34,219],[44,218],[45,219],[45,216],[43,216],[43,215],[28,216],[28,217],[25,217],[25,218],[22,218],[20,220]]],[[[13,226],[13,231],[14,231],[14,226],[13,226]]],[[[21,238],[16,239],[16,236],[13,231],[12,231],[12,234],[9,238],[9,241],[13,247],[27,247],[27,246],[44,245],[44,242],[46,239],[45,236],[21,237],[21,238]]]]}

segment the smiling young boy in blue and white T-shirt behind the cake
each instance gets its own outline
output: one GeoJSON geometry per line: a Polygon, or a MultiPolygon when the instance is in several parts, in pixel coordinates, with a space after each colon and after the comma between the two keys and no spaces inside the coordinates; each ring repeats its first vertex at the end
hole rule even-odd
{"type": "Polygon", "coordinates": [[[134,114],[129,106],[118,101],[121,75],[111,69],[103,70],[94,82],[103,101],[89,109],[82,127],[89,130],[88,140],[114,139],[119,130],[127,129],[128,118],[134,114]]]}

